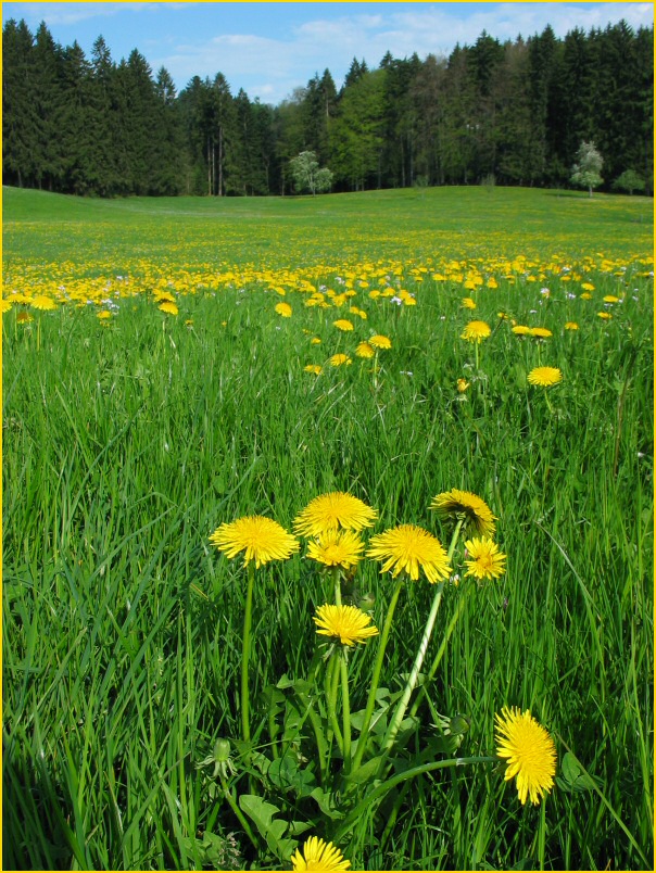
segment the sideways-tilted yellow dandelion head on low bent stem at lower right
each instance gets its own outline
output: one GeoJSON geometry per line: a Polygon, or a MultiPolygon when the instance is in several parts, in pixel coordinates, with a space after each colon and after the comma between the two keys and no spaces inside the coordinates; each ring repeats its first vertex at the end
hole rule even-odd
{"type": "Polygon", "coordinates": [[[529,710],[503,707],[496,720],[496,754],[507,758],[505,781],[517,776],[517,794],[522,804],[527,797],[540,802],[548,794],[556,773],[556,747],[547,731],[529,710]]]}

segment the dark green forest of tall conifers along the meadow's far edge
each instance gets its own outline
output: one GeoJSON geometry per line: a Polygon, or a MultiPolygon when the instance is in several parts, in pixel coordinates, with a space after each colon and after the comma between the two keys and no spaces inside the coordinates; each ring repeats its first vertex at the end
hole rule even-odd
{"type": "Polygon", "coordinates": [[[564,187],[593,141],[604,188],[628,169],[653,192],[654,30],[621,21],[547,26],[500,42],[485,31],[449,59],[387,53],[328,69],[277,106],[236,96],[225,76],[176,93],[136,49],[90,59],[47,26],[7,22],[2,40],[5,185],[76,194],[286,194],[289,161],[314,151],[335,190],[413,185],[564,187]]]}

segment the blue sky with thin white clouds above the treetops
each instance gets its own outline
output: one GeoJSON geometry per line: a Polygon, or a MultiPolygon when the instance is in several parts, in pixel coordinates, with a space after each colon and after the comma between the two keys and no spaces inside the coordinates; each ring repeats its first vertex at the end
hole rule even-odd
{"type": "Polygon", "coordinates": [[[114,61],[138,49],[153,73],[165,66],[182,89],[199,75],[220,72],[232,93],[277,104],[315,73],[329,68],[338,88],[354,56],[376,67],[417,52],[449,55],[483,29],[500,40],[541,33],[564,37],[625,18],[651,26],[653,3],[2,3],[2,20],[25,18],[34,33],[45,21],[62,46],[79,42],[90,56],[102,35],[114,61]]]}

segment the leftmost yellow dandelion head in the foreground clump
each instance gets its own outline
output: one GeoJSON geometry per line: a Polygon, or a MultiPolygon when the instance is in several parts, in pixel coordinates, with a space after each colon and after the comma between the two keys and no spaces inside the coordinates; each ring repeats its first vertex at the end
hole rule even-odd
{"type": "Polygon", "coordinates": [[[225,522],[210,536],[210,542],[226,553],[228,558],[244,553],[244,566],[255,561],[255,567],[269,560],[287,560],[300,548],[299,541],[270,518],[244,516],[237,521],[225,522]]]}

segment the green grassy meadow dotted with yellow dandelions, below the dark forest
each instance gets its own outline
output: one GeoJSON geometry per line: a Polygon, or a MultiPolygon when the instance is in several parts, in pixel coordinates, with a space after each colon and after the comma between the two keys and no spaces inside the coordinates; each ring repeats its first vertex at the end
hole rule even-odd
{"type": "MultiPolygon", "coordinates": [[[[653,869],[652,246],[653,202],[628,197],[4,188],[3,868],[290,870],[312,834],[353,870],[653,869]],[[501,760],[463,763],[344,818],[364,776],[321,793],[288,719],[323,669],[325,574],[306,543],[254,574],[245,742],[250,583],[210,536],[291,532],[343,492],[377,513],[363,539],[446,547],[430,505],[452,489],[489,506],[505,568],[467,577],[454,552],[394,772],[494,757],[518,707],[556,779],[525,805],[501,760]]],[[[396,581],[364,557],[351,584],[382,631],[396,581]]],[[[434,587],[404,584],[379,703],[434,587]]],[[[352,713],[377,640],[356,648],[352,713]]],[[[338,736],[316,706],[317,743],[338,736]]]]}

